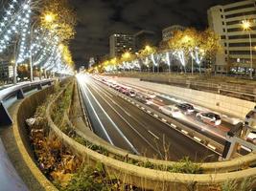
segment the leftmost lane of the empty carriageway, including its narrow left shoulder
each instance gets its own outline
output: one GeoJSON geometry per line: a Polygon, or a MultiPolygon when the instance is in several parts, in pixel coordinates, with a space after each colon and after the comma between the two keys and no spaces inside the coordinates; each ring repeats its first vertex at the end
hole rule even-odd
{"type": "Polygon", "coordinates": [[[97,103],[95,98],[87,91],[87,86],[84,81],[83,84],[81,84],[81,95],[88,101],[87,105],[85,105],[86,109],[88,107],[91,108],[88,114],[93,124],[95,134],[104,138],[112,145],[133,152],[127,142],[120,141],[122,138],[120,134],[115,131],[111,119],[106,115],[105,110],[97,103]]]}

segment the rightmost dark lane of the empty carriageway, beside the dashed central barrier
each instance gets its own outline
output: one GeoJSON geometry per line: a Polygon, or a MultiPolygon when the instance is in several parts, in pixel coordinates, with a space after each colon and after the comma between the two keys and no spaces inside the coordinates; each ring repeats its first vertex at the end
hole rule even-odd
{"type": "MultiPolygon", "coordinates": [[[[105,85],[102,84],[102,86],[105,85]]],[[[108,88],[105,86],[105,90],[107,89],[108,88]]],[[[109,91],[109,93],[111,92],[109,91]]],[[[145,128],[147,128],[148,131],[151,131],[151,133],[156,135],[158,138],[161,138],[162,142],[165,142],[166,145],[170,145],[168,149],[168,154],[170,156],[169,159],[177,160],[188,156],[192,160],[202,161],[208,156],[213,156],[211,159],[207,158],[209,161],[217,160],[219,158],[215,152],[207,149],[195,140],[187,138],[184,135],[176,132],[168,125],[162,123],[154,117],[151,117],[142,110],[138,109],[136,106],[128,103],[128,101],[124,100],[123,98],[118,96],[116,97],[115,101],[119,102],[123,108],[128,108],[129,114],[131,114],[132,117],[135,117],[137,120],[145,123],[145,128]],[[163,139],[165,140],[163,141],[163,139]]],[[[164,145],[160,146],[164,147],[164,145]]]]}

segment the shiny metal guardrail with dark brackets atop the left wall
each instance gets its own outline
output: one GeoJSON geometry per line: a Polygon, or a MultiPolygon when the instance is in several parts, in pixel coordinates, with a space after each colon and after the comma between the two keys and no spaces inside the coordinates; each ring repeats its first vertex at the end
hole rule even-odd
{"type": "Polygon", "coordinates": [[[54,79],[45,79],[41,81],[22,83],[0,91],[0,126],[12,124],[12,117],[9,115],[8,110],[4,105],[4,101],[8,100],[12,96],[16,96],[17,99],[22,99],[24,98],[24,92],[34,89],[41,90],[42,86],[51,85],[53,81],[54,79]]]}

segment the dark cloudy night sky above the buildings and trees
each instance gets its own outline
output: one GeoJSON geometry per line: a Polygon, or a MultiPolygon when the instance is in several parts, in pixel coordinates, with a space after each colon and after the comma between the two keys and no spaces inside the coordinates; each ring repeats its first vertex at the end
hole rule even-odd
{"type": "Polygon", "coordinates": [[[115,32],[161,30],[174,24],[204,29],[207,9],[236,0],[70,0],[77,11],[78,26],[71,42],[79,66],[90,56],[105,55],[108,37],[115,32]]]}

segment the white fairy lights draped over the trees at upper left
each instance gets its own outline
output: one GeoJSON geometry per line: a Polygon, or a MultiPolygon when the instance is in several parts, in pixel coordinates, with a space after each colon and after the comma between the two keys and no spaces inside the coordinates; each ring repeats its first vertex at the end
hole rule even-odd
{"type": "Polygon", "coordinates": [[[14,49],[14,64],[28,63],[47,71],[71,73],[63,61],[58,35],[39,26],[33,29],[32,17],[37,0],[12,0],[0,17],[0,56],[14,49]],[[32,35],[33,34],[33,35],[32,35]],[[33,36],[33,37],[32,37],[33,36]]]}

